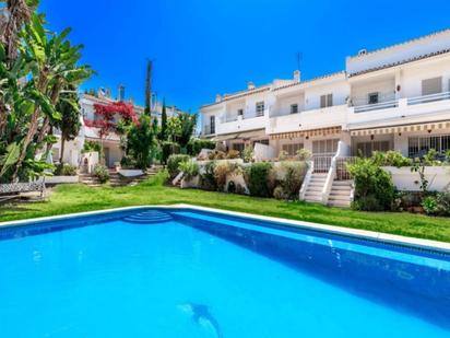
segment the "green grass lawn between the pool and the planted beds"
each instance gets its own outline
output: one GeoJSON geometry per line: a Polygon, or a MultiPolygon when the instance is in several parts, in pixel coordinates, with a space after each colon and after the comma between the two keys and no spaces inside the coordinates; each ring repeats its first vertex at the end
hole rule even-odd
{"type": "Polygon", "coordinates": [[[181,190],[163,186],[161,177],[150,179],[139,186],[123,188],[61,185],[54,189],[49,201],[0,208],[0,221],[128,206],[173,203],[190,203],[450,242],[450,218],[393,212],[359,212],[304,202],[285,202],[193,189],[181,190]]]}

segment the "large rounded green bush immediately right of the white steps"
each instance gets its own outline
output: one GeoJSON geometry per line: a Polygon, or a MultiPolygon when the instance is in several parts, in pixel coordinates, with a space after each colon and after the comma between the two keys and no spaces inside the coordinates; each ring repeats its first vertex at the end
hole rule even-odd
{"type": "Polygon", "coordinates": [[[374,159],[356,159],[348,165],[355,180],[353,207],[358,210],[392,210],[395,188],[391,176],[374,159]]]}

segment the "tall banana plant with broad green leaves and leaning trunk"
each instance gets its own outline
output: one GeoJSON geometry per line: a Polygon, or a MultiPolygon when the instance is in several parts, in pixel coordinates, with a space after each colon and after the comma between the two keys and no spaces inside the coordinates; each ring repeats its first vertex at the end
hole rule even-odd
{"type": "MultiPolygon", "coordinates": [[[[37,14],[33,14],[29,24],[21,33],[23,44],[20,55],[31,65],[28,83],[32,83],[33,90],[28,94],[34,102],[34,110],[12,175],[13,180],[19,175],[33,139],[37,137],[38,144],[35,145],[39,145],[51,121],[61,118],[55,105],[63,86],[78,85],[93,73],[87,66],[78,66],[82,46],[72,46],[67,39],[70,30],[64,30],[61,34],[46,32],[43,18],[37,14]]],[[[38,147],[34,149],[36,152],[38,147]]]]}

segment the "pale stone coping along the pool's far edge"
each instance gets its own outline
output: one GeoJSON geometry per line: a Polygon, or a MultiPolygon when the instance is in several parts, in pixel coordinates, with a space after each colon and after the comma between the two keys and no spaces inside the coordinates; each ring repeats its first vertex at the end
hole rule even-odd
{"type": "Polygon", "coordinates": [[[139,210],[139,209],[147,209],[147,208],[155,208],[155,209],[183,208],[183,209],[221,213],[221,214],[226,214],[226,215],[236,215],[236,217],[241,217],[241,218],[247,218],[247,219],[252,219],[252,220],[276,222],[279,224],[281,223],[283,225],[288,225],[288,226],[298,228],[298,229],[315,230],[315,231],[327,232],[327,233],[332,233],[332,234],[338,234],[338,235],[352,236],[356,238],[366,238],[366,240],[371,240],[376,242],[412,246],[412,247],[417,247],[417,248],[423,248],[423,249],[440,250],[440,252],[450,254],[450,243],[446,243],[446,242],[407,237],[407,236],[393,235],[393,234],[375,232],[375,231],[369,231],[369,230],[359,230],[359,229],[352,229],[352,228],[338,226],[338,225],[312,223],[312,222],[307,222],[307,221],[289,220],[289,219],[260,215],[260,214],[239,212],[239,211],[229,211],[229,210],[224,210],[224,209],[214,209],[214,208],[200,207],[200,206],[194,206],[194,205],[189,205],[189,203],[177,203],[177,205],[169,205],[169,206],[167,205],[134,206],[134,207],[123,207],[123,208],[112,208],[112,209],[94,210],[94,211],[85,211],[85,212],[75,212],[75,213],[68,213],[68,214],[58,214],[58,215],[26,219],[26,220],[20,220],[20,221],[8,221],[8,222],[0,222],[0,229],[7,228],[7,226],[28,225],[28,224],[42,223],[46,221],[66,220],[66,219],[81,217],[81,215],[95,215],[95,214],[109,213],[112,211],[139,210]]]}

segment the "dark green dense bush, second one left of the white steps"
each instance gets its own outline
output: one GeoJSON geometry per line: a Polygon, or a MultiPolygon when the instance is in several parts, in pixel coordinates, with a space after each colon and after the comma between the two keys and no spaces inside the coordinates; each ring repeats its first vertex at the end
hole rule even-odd
{"type": "Polygon", "coordinates": [[[246,183],[250,195],[271,197],[273,191],[272,163],[253,163],[246,172],[246,183]]]}

